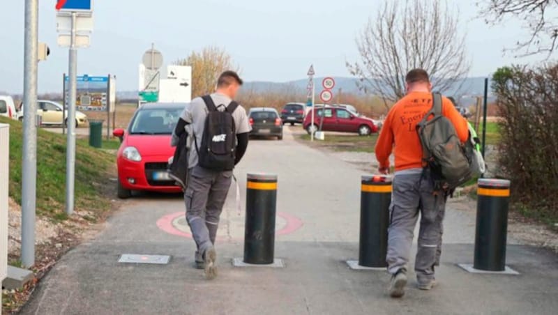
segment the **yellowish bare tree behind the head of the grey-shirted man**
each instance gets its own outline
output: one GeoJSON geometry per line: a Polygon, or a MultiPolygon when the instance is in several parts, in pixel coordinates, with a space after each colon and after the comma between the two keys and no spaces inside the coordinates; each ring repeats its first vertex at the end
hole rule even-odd
{"type": "Polygon", "coordinates": [[[219,75],[225,70],[236,70],[231,56],[220,47],[204,47],[201,52],[192,52],[186,59],[176,61],[179,66],[192,67],[192,95],[194,97],[215,90],[219,75]]]}

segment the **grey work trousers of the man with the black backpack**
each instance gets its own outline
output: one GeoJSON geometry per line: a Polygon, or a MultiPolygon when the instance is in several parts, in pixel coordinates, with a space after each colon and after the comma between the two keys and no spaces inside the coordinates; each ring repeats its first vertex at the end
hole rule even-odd
{"type": "Polygon", "coordinates": [[[215,245],[219,217],[231,185],[232,171],[211,171],[196,166],[190,169],[188,176],[188,187],[184,192],[186,221],[197,251],[203,254],[215,245]]]}

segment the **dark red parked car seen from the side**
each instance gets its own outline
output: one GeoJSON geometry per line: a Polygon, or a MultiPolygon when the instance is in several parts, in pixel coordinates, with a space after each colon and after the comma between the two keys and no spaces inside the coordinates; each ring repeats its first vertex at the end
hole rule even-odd
{"type": "Polygon", "coordinates": [[[356,132],[361,136],[378,132],[372,119],[357,116],[345,107],[316,107],[314,121],[312,122],[312,113],[307,114],[303,127],[310,135],[319,130],[320,123],[323,131],[356,132]]]}

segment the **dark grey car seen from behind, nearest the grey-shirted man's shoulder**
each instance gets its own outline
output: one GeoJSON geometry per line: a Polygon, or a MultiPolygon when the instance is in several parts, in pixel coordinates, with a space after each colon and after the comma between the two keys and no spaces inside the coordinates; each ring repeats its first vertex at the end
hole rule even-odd
{"type": "Polygon", "coordinates": [[[250,137],[277,137],[283,139],[283,124],[279,113],[271,107],[256,107],[250,109],[248,119],[252,126],[250,137]]]}

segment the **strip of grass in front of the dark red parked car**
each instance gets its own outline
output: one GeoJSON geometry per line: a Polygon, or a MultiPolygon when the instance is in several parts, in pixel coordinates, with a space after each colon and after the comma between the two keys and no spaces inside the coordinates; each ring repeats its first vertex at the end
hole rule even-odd
{"type": "MultiPolygon", "coordinates": [[[[301,135],[303,141],[310,141],[310,135],[301,135]]],[[[335,151],[374,153],[378,135],[361,137],[358,135],[328,135],[325,140],[315,140],[315,144],[333,148],[335,151]]]]}

